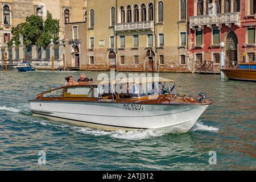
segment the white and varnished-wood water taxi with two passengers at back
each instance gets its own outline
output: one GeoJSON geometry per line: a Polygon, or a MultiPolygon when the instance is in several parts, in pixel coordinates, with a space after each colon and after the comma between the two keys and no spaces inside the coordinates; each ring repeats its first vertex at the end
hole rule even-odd
{"type": "Polygon", "coordinates": [[[31,100],[32,114],[102,129],[168,129],[187,133],[212,100],[180,96],[175,82],[162,77],[127,78],[100,84],[64,86],[31,100]]]}

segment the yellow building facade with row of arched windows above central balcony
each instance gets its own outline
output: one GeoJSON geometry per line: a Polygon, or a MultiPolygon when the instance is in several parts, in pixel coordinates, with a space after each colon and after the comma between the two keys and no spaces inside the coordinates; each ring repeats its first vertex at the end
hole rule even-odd
{"type": "Polygon", "coordinates": [[[188,72],[185,0],[88,0],[86,9],[86,69],[188,72]]]}

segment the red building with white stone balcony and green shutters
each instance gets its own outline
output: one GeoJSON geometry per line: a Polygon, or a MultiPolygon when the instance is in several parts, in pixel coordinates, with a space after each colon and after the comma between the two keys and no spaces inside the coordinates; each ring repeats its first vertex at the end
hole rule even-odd
{"type": "Polygon", "coordinates": [[[193,72],[220,71],[220,43],[226,65],[255,61],[256,0],[188,1],[188,50],[193,72]]]}

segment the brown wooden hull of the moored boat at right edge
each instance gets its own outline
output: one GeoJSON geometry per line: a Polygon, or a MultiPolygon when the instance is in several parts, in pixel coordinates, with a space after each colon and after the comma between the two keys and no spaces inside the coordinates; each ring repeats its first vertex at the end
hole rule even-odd
{"type": "Polygon", "coordinates": [[[221,69],[229,79],[256,81],[254,69],[221,69]]]}

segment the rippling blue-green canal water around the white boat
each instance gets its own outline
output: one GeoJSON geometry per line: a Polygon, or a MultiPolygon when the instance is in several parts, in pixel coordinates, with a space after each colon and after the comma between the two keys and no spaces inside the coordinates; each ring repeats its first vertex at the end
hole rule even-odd
{"type": "Polygon", "coordinates": [[[187,134],[106,132],[32,117],[28,100],[49,86],[63,86],[64,77],[77,78],[80,73],[97,80],[104,72],[0,72],[0,169],[256,169],[256,82],[160,73],[175,80],[181,94],[190,94],[188,86],[214,100],[187,134]],[[38,164],[40,151],[46,152],[46,165],[38,164]],[[217,164],[210,165],[214,156],[217,164]]]}

